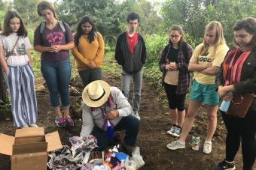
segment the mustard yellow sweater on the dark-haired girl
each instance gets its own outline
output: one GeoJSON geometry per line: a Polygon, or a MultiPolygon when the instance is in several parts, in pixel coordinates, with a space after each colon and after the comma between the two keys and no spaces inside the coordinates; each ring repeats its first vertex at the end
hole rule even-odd
{"type": "MultiPolygon", "coordinates": [[[[102,67],[102,59],[104,55],[104,40],[102,34],[96,33],[92,43],[89,43],[87,37],[79,38],[78,46],[72,49],[72,55],[76,59],[76,67],[78,71],[88,70],[92,68],[102,67]]],[[[75,34],[73,34],[74,36],[75,34]]]]}

